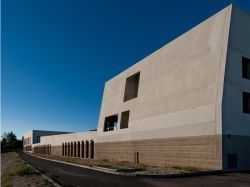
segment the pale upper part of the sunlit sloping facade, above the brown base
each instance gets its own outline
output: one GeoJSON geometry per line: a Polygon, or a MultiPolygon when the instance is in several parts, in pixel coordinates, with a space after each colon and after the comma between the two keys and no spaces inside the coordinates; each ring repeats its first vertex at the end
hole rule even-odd
{"type": "Polygon", "coordinates": [[[98,142],[221,134],[229,6],[106,82],[98,142]],[[140,72],[138,97],[123,102],[126,78],[140,72]],[[119,129],[130,110],[129,128],[119,129]],[[103,132],[119,114],[118,130],[103,132]]]}

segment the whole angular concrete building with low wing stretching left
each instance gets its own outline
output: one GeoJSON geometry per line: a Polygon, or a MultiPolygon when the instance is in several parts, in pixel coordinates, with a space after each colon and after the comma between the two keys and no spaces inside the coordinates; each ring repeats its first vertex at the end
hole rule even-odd
{"type": "Polygon", "coordinates": [[[97,131],[42,136],[45,145],[62,156],[250,169],[250,15],[230,5],[123,71],[105,83],[97,131]]]}

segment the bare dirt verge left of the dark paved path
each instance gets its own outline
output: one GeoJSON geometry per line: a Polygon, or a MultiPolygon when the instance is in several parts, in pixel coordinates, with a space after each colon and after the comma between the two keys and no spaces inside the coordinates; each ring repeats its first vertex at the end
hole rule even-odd
{"type": "Polygon", "coordinates": [[[24,161],[15,152],[1,154],[2,187],[53,186],[52,183],[36,171],[20,176],[18,170],[23,164],[24,161]]]}

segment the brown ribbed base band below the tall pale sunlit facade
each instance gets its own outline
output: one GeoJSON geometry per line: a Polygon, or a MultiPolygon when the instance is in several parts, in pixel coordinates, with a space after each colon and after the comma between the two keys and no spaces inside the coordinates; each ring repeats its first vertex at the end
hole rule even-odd
{"type": "Polygon", "coordinates": [[[211,135],[96,143],[95,158],[222,169],[222,137],[211,135]]]}

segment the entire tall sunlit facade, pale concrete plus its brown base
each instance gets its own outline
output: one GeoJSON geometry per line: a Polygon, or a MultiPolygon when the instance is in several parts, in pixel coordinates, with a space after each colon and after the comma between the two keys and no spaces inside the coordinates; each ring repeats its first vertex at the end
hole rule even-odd
{"type": "Polygon", "coordinates": [[[106,82],[97,158],[133,161],[139,152],[147,164],[222,168],[221,111],[231,10],[225,8],[106,82]],[[138,97],[123,102],[126,78],[137,72],[138,97]],[[127,110],[129,128],[119,129],[121,113],[127,110]],[[105,117],[114,114],[119,115],[118,130],[103,132],[105,117]]]}

